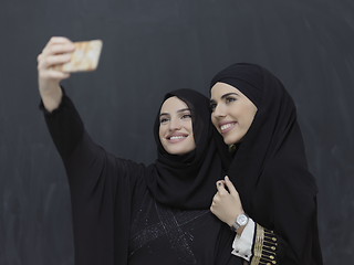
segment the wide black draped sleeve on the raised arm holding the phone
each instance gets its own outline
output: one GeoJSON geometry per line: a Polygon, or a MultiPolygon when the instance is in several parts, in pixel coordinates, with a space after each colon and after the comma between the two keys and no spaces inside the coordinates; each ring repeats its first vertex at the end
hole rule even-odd
{"type": "Polygon", "coordinates": [[[126,264],[132,198],[146,167],[97,146],[65,94],[52,113],[41,108],[67,174],[75,264],[126,264]]]}

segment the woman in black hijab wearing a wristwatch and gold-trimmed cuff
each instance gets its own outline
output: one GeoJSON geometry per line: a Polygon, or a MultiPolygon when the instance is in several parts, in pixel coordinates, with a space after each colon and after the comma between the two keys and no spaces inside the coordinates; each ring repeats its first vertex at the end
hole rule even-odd
{"type": "MultiPolygon", "coordinates": [[[[232,161],[211,212],[233,227],[250,264],[323,264],[314,177],[295,105],[282,83],[254,64],[233,64],[211,81],[211,120],[232,161]]],[[[222,144],[219,144],[222,147],[222,144]]]]}

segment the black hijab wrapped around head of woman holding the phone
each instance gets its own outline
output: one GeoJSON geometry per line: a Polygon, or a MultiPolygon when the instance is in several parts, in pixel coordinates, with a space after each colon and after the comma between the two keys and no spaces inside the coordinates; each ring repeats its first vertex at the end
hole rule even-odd
{"type": "MultiPolygon", "coordinates": [[[[209,99],[196,91],[183,88],[165,95],[176,96],[190,109],[196,149],[184,156],[168,153],[158,136],[159,112],[154,136],[158,158],[148,174],[147,186],[154,198],[179,209],[209,209],[221,174],[221,160],[216,149],[216,129],[210,123],[209,99]]],[[[220,137],[220,136],[217,136],[220,137]]]]}

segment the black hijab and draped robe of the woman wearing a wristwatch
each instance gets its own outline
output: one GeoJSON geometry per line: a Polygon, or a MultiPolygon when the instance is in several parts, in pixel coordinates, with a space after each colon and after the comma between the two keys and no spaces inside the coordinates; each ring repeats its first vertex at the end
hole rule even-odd
{"type": "Polygon", "coordinates": [[[304,252],[320,247],[319,239],[309,239],[308,231],[316,220],[317,188],[308,169],[291,96],[273,74],[256,64],[233,64],[218,73],[210,87],[217,82],[238,88],[258,108],[227,172],[243,210],[289,243],[285,256],[310,264],[304,252]]]}

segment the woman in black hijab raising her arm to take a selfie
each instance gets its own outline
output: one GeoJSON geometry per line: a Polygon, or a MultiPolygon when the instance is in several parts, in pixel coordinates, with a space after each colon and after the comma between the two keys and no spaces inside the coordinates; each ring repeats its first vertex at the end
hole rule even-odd
{"type": "Polygon", "coordinates": [[[90,138],[60,87],[69,74],[51,67],[70,61],[72,50],[53,38],[38,71],[41,108],[70,184],[75,264],[235,264],[235,233],[209,211],[222,177],[209,99],[190,89],[167,94],[154,125],[155,163],[116,158],[90,138]]]}

